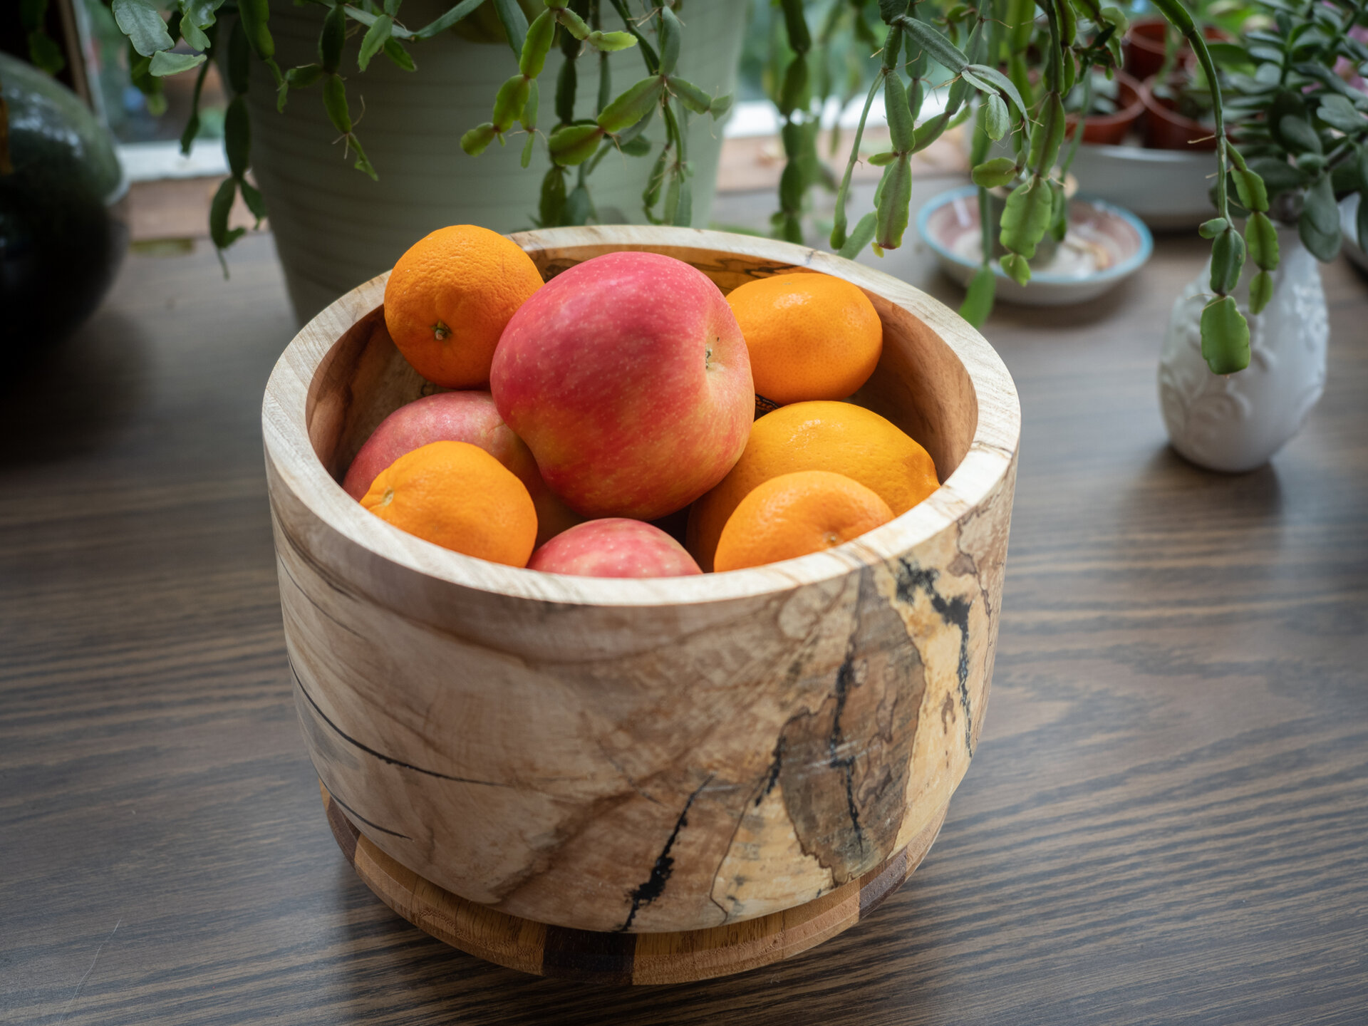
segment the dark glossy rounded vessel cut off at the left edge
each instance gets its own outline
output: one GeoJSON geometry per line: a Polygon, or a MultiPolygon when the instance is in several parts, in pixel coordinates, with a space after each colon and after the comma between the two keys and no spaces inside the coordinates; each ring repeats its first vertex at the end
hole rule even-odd
{"type": "Polygon", "coordinates": [[[62,83],[0,53],[10,164],[0,168],[0,353],[38,354],[104,298],[129,245],[127,182],[108,130],[62,83]]]}

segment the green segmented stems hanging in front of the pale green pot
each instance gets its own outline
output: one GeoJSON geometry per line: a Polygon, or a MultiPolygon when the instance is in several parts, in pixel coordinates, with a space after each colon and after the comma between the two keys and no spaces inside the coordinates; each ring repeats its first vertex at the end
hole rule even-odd
{"type": "MultiPolygon", "coordinates": [[[[45,0],[25,1],[25,25],[41,25],[45,0]]],[[[495,140],[502,145],[514,133],[525,134],[523,166],[531,163],[532,149],[540,138],[553,167],[542,183],[536,223],[540,226],[583,224],[592,218],[587,178],[610,150],[629,156],[647,156],[653,145],[643,135],[658,112],[665,124],[665,142],[647,176],[643,193],[646,215],[654,223],[687,224],[692,216],[691,170],[687,152],[687,127],[692,115],[721,118],[731,97],[714,97],[680,77],[679,62],[683,26],[669,7],[648,7],[636,16],[627,0],[546,0],[544,10],[528,22],[516,0],[460,0],[427,25],[409,27],[401,19],[402,0],[297,0],[320,8],[317,60],[282,68],[275,59],[268,0],[109,0],[114,18],[129,40],[130,79],[142,90],[153,111],[164,109],[161,79],[167,75],[194,73],[194,103],[181,145],[189,152],[198,134],[198,100],[211,60],[219,60],[228,86],[224,115],[224,149],[230,176],[215,194],[209,209],[209,235],[220,256],[242,235],[242,228],[228,228],[228,212],[237,196],[260,223],[265,216],[261,194],[249,181],[252,131],[245,96],[252,59],[271,73],[276,105],[283,109],[294,90],[317,89],[332,126],[339,133],[343,153],[354,167],[371,178],[376,168],[367,157],[357,134],[357,118],[349,98],[350,70],[342,67],[343,45],[350,36],[363,34],[356,71],[364,73],[379,55],[398,67],[413,71],[409,47],[458,27],[465,19],[492,4],[499,34],[508,40],[517,59],[512,75],[494,96],[490,120],[465,133],[461,146],[477,155],[495,140]],[[603,29],[607,16],[620,29],[603,29]],[[227,29],[222,26],[227,25],[227,29]],[[654,29],[654,31],[653,31],[654,29]],[[648,33],[654,34],[655,45],[648,33]],[[185,44],[182,47],[181,44],[185,44]],[[539,78],[551,47],[558,45],[565,63],[554,92],[554,126],[538,131],[539,78]],[[646,77],[613,94],[607,55],[637,48],[646,64],[646,77]],[[183,49],[194,51],[192,53],[183,49]],[[599,90],[594,97],[592,116],[581,116],[577,93],[577,62],[596,55],[601,60],[599,90]],[[568,176],[575,174],[573,186],[568,176]]],[[[484,27],[473,34],[480,36],[484,27]]],[[[51,40],[38,27],[30,34],[30,53],[36,63],[53,67],[51,40]],[[45,63],[44,63],[45,62],[45,63]]]]}

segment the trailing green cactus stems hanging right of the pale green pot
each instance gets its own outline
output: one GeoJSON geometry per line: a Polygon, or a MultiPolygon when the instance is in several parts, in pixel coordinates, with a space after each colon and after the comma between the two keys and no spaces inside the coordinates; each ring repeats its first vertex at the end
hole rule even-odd
{"type": "MultiPolygon", "coordinates": [[[[765,93],[782,119],[785,167],[773,219],[776,234],[802,241],[803,218],[813,209],[810,193],[833,187],[815,152],[829,107],[839,109],[843,100],[867,86],[845,172],[834,185],[829,242],[843,256],[855,256],[866,246],[880,253],[902,245],[910,218],[911,157],[973,118],[971,164],[984,263],[960,313],[982,324],[996,293],[995,259],[1010,278],[1025,285],[1047,234],[1060,239],[1067,230],[1066,178],[1081,133],[1064,146],[1064,97],[1082,83],[1075,103],[1079,109],[1093,107],[1094,70],[1109,81],[1122,63],[1126,15],[1097,0],[1041,0],[1038,7],[1033,0],[940,5],[836,0],[825,8],[777,0],[777,14],[772,8],[765,62],[759,62],[754,47],[747,51],[751,68],[759,64],[765,93]],[[819,26],[815,33],[811,25],[819,26]],[[862,70],[858,57],[848,56],[858,55],[860,47],[878,59],[873,75],[873,57],[866,57],[862,70]],[[844,56],[836,60],[833,55],[844,56]],[[891,148],[869,157],[869,163],[884,167],[884,175],[874,209],[851,227],[851,174],[862,157],[869,114],[880,98],[891,148]],[[1001,141],[1010,156],[989,157],[990,145],[1001,141]],[[1010,192],[995,218],[989,192],[1003,187],[1010,192]]],[[[1192,47],[1207,75],[1219,185],[1213,197],[1218,218],[1208,223],[1213,241],[1212,300],[1202,317],[1202,341],[1211,369],[1231,373],[1248,365],[1249,328],[1230,295],[1246,246],[1231,219],[1226,174],[1233,164],[1237,185],[1252,194],[1259,187],[1257,174],[1220,129],[1220,93],[1204,30],[1176,0],[1156,0],[1155,7],[1192,47]],[[1219,231],[1212,228],[1218,222],[1219,231]]],[[[1226,14],[1234,16],[1233,11],[1226,14]]]]}

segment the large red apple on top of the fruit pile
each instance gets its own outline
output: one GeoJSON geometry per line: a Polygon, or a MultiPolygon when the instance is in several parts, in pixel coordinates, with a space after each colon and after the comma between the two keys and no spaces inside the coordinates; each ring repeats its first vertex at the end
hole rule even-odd
{"type": "Polygon", "coordinates": [[[542,286],[499,338],[490,391],[586,517],[687,506],[740,458],[755,412],[722,293],[658,253],[606,253],[542,286]]]}

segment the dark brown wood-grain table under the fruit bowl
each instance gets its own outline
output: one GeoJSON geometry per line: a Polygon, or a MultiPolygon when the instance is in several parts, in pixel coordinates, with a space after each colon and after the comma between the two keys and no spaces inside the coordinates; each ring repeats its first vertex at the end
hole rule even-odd
{"type": "MultiPolygon", "coordinates": [[[[205,246],[130,259],[0,404],[0,1019],[1364,1023],[1368,282],[1324,268],[1305,431],[1204,473],[1155,394],[1202,245],[988,327],[1025,413],[1007,598],[925,865],[807,955],[636,990],[454,952],[353,876],[280,632],[259,406],[293,323],[269,239],[230,282],[205,246]]],[[[958,301],[925,253],[891,261],[958,301]]]]}

